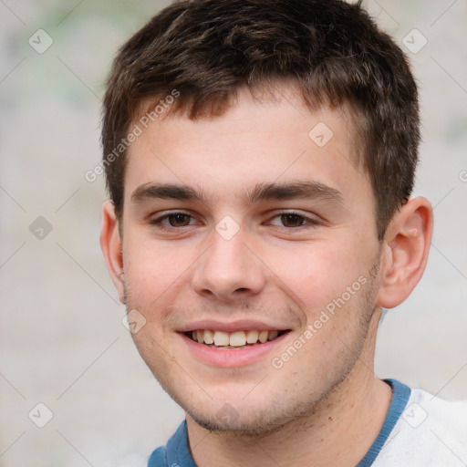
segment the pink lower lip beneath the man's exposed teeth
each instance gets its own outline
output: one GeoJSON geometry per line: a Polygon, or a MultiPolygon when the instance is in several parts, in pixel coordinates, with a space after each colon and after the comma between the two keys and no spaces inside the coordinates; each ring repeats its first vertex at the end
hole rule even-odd
{"type": "Polygon", "coordinates": [[[192,354],[205,363],[221,368],[235,368],[250,365],[276,348],[289,333],[269,340],[265,344],[254,344],[245,348],[213,348],[181,334],[192,354]]]}

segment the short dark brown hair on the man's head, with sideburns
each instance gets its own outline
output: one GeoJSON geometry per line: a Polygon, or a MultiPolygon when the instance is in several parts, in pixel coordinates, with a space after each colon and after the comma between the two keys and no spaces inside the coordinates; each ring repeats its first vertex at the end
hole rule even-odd
{"type": "Polygon", "coordinates": [[[310,108],[348,104],[362,138],[379,239],[413,188],[420,142],[417,87],[407,59],[360,4],[340,0],[182,0],[120,48],[107,81],[102,145],[121,219],[121,144],[148,99],[176,89],[171,112],[215,117],[241,88],[293,79],[310,108]],[[114,152],[115,156],[115,152],[114,152]]]}

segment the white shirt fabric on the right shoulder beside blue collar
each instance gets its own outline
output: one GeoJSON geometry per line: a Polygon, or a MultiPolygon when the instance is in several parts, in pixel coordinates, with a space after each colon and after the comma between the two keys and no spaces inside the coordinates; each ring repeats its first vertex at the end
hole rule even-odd
{"type": "Polygon", "coordinates": [[[467,461],[467,401],[448,401],[411,389],[400,420],[375,467],[457,466],[467,461]]]}

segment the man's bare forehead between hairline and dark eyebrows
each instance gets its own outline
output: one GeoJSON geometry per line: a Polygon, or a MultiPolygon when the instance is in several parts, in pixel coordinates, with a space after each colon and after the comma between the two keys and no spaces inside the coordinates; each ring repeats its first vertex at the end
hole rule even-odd
{"type": "Polygon", "coordinates": [[[258,183],[314,181],[366,191],[358,138],[346,108],[310,110],[293,88],[274,97],[240,91],[222,116],[161,115],[130,145],[125,202],[150,182],[201,187],[206,199],[246,199],[258,183]]]}

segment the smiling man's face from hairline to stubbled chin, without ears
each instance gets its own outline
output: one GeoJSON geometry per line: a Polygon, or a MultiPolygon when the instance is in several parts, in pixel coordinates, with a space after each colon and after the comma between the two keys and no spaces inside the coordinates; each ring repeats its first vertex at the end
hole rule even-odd
{"type": "Polygon", "coordinates": [[[145,320],[133,337],[210,430],[313,410],[369,338],[379,242],[350,120],[285,92],[156,120],[129,150],[123,278],[145,320]]]}

